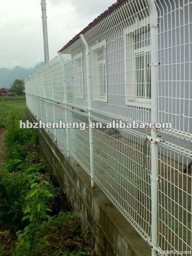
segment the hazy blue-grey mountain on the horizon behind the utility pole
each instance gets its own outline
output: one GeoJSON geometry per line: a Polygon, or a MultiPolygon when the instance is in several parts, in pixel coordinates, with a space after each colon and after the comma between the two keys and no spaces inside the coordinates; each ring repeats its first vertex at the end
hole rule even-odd
{"type": "Polygon", "coordinates": [[[29,69],[19,66],[14,67],[14,69],[12,70],[8,68],[0,68],[0,88],[9,88],[10,84],[12,84],[15,81],[15,79],[26,79],[27,76],[34,73],[43,65],[44,62],[40,62],[35,67],[29,69]]]}

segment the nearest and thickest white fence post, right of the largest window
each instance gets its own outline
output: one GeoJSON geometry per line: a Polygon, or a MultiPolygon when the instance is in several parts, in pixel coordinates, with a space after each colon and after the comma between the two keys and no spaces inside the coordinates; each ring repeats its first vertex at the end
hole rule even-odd
{"type": "MultiPolygon", "coordinates": [[[[153,0],[147,0],[150,10],[150,31],[151,31],[151,122],[157,123],[157,10],[153,0]]],[[[157,131],[151,130],[151,256],[156,256],[157,250],[157,131]]]]}

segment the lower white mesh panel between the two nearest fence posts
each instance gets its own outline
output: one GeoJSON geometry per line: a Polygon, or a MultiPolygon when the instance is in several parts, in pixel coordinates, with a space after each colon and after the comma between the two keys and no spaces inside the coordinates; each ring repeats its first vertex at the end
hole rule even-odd
{"type": "Polygon", "coordinates": [[[151,234],[149,146],[117,129],[93,129],[94,179],[146,241],[151,234]]]}

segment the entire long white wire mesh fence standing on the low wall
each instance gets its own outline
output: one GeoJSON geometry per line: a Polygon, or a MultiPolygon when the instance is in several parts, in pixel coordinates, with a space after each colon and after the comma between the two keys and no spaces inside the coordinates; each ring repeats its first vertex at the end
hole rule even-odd
{"type": "Polygon", "coordinates": [[[152,255],[192,247],[190,13],[191,0],[122,1],[25,81],[27,106],[44,122],[172,123],[49,130],[152,255]]]}

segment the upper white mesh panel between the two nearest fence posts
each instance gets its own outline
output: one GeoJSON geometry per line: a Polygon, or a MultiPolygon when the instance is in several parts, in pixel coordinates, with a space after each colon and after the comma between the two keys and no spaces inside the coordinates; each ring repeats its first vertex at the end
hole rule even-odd
{"type": "Polygon", "coordinates": [[[94,112],[149,122],[148,15],[145,0],[127,1],[84,34],[90,48],[94,112]]]}

